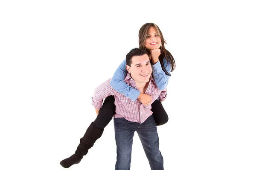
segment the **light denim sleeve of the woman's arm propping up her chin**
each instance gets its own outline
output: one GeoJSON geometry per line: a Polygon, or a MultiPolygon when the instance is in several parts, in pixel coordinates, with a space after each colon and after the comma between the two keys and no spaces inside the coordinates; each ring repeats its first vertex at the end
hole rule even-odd
{"type": "MultiPolygon", "coordinates": [[[[167,62],[166,59],[164,59],[164,66],[166,68],[166,71],[168,71],[168,73],[171,74],[171,64],[167,62]]],[[[154,81],[157,84],[157,87],[160,90],[163,90],[164,88],[166,88],[171,76],[165,74],[165,72],[161,67],[160,61],[152,65],[152,73],[154,76],[154,81]]]]}

